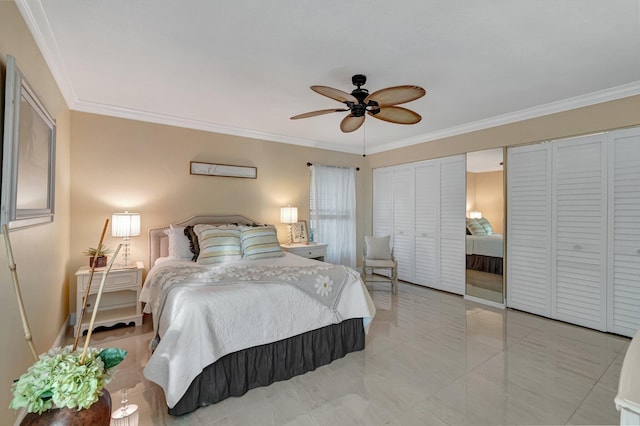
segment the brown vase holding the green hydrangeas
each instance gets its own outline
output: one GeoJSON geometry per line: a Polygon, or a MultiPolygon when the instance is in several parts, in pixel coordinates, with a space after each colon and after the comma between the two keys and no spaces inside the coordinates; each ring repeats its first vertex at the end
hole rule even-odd
{"type": "Polygon", "coordinates": [[[89,408],[52,408],[42,414],[27,413],[22,426],[109,426],[111,421],[111,395],[102,389],[102,396],[89,408]]]}

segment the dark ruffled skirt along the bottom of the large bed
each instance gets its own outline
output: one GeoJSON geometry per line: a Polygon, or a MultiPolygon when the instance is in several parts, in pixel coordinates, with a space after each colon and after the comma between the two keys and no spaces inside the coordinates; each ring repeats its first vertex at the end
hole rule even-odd
{"type": "Polygon", "coordinates": [[[225,355],[193,379],[182,399],[169,408],[169,414],[187,414],[230,396],[244,395],[255,387],[315,370],[349,352],[361,351],[364,340],[362,318],[354,318],[225,355]]]}

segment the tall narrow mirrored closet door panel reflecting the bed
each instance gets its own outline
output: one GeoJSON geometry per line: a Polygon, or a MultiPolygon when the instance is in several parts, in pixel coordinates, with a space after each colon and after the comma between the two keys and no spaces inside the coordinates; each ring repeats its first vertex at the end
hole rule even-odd
{"type": "Polygon", "coordinates": [[[504,304],[502,148],[467,154],[466,296],[504,304]]]}

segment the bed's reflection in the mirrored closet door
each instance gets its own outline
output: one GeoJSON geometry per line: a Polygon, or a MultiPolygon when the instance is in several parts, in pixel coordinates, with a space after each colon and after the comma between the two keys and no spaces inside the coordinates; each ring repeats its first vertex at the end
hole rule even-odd
{"type": "Polygon", "coordinates": [[[467,269],[502,275],[503,246],[486,219],[467,219],[467,269]]]}

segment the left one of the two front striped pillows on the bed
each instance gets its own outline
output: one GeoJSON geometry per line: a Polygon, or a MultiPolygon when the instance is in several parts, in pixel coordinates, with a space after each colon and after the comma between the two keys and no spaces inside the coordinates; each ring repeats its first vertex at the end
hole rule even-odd
{"type": "Polygon", "coordinates": [[[240,229],[237,226],[196,225],[200,254],[198,263],[211,265],[242,259],[240,229]]]}

